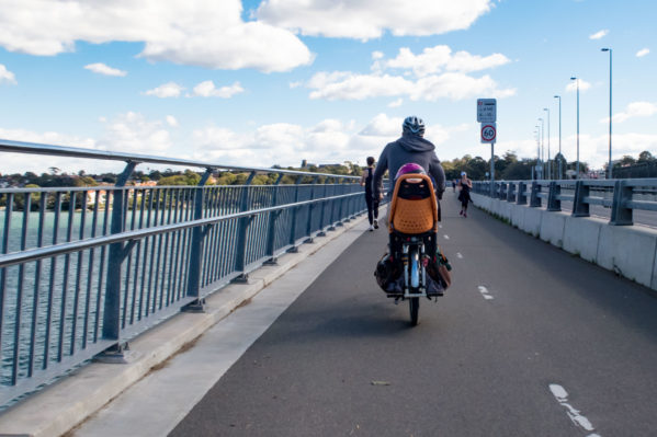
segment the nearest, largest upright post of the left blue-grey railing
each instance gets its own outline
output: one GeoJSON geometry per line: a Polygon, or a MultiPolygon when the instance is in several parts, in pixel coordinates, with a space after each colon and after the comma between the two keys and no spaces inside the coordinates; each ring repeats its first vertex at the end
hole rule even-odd
{"type": "MultiPolygon", "coordinates": [[[[135,166],[138,162],[128,161],[123,173],[118,175],[116,180],[115,188],[122,188],[127,183],[128,179],[133,174],[135,166]]],[[[113,202],[112,202],[112,225],[110,232],[112,234],[121,233],[125,227],[125,191],[114,189],[113,202]]],[[[106,207],[106,206],[105,206],[106,207]]],[[[107,258],[107,285],[105,288],[105,299],[103,307],[103,333],[102,336],[105,340],[120,340],[121,331],[121,284],[122,284],[122,267],[123,262],[126,258],[126,251],[124,250],[124,243],[112,243],[110,245],[110,255],[107,258]]],[[[122,352],[122,345],[117,344],[114,346],[115,352],[122,352]]]]}

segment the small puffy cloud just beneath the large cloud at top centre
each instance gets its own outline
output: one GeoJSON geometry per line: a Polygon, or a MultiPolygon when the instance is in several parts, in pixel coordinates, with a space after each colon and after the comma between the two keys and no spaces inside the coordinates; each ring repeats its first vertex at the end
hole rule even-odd
{"type": "Polygon", "coordinates": [[[482,57],[467,51],[456,51],[445,45],[427,47],[420,55],[403,47],[396,58],[385,62],[388,68],[412,69],[416,76],[427,76],[441,71],[473,72],[495,68],[510,62],[501,54],[482,57]]]}

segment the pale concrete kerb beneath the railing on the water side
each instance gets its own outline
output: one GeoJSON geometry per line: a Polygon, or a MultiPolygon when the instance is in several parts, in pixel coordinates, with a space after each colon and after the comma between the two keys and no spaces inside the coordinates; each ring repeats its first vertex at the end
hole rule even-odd
{"type": "Polygon", "coordinates": [[[192,345],[205,331],[237,307],[296,266],[307,256],[340,237],[366,216],[350,220],[297,253],[281,256],[277,265],[262,266],[249,275],[248,284],[231,284],[206,298],[205,312],[182,312],[129,343],[128,364],[91,363],[31,395],[0,414],[1,436],[60,436],[93,415],[129,386],[192,345]]]}

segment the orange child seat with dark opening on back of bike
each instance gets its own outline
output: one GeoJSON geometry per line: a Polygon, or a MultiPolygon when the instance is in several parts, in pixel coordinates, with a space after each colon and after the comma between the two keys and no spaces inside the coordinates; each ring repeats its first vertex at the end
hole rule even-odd
{"type": "Polygon", "coordinates": [[[407,173],[395,184],[388,231],[417,234],[438,232],[438,202],[426,174],[407,173]]]}

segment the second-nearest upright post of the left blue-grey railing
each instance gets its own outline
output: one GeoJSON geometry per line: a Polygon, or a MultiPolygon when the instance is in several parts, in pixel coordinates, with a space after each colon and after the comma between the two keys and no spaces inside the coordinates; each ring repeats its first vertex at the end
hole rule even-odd
{"type": "MultiPolygon", "coordinates": [[[[206,169],[205,173],[201,176],[196,192],[194,193],[194,220],[203,218],[203,206],[205,204],[205,183],[212,175],[213,169],[206,169]]],[[[195,227],[192,230],[192,243],[190,246],[190,265],[188,276],[188,297],[193,297],[196,300],[188,306],[188,310],[201,311],[203,309],[203,302],[200,301],[201,297],[201,255],[203,253],[203,240],[205,239],[205,232],[201,227],[195,227]]]]}

